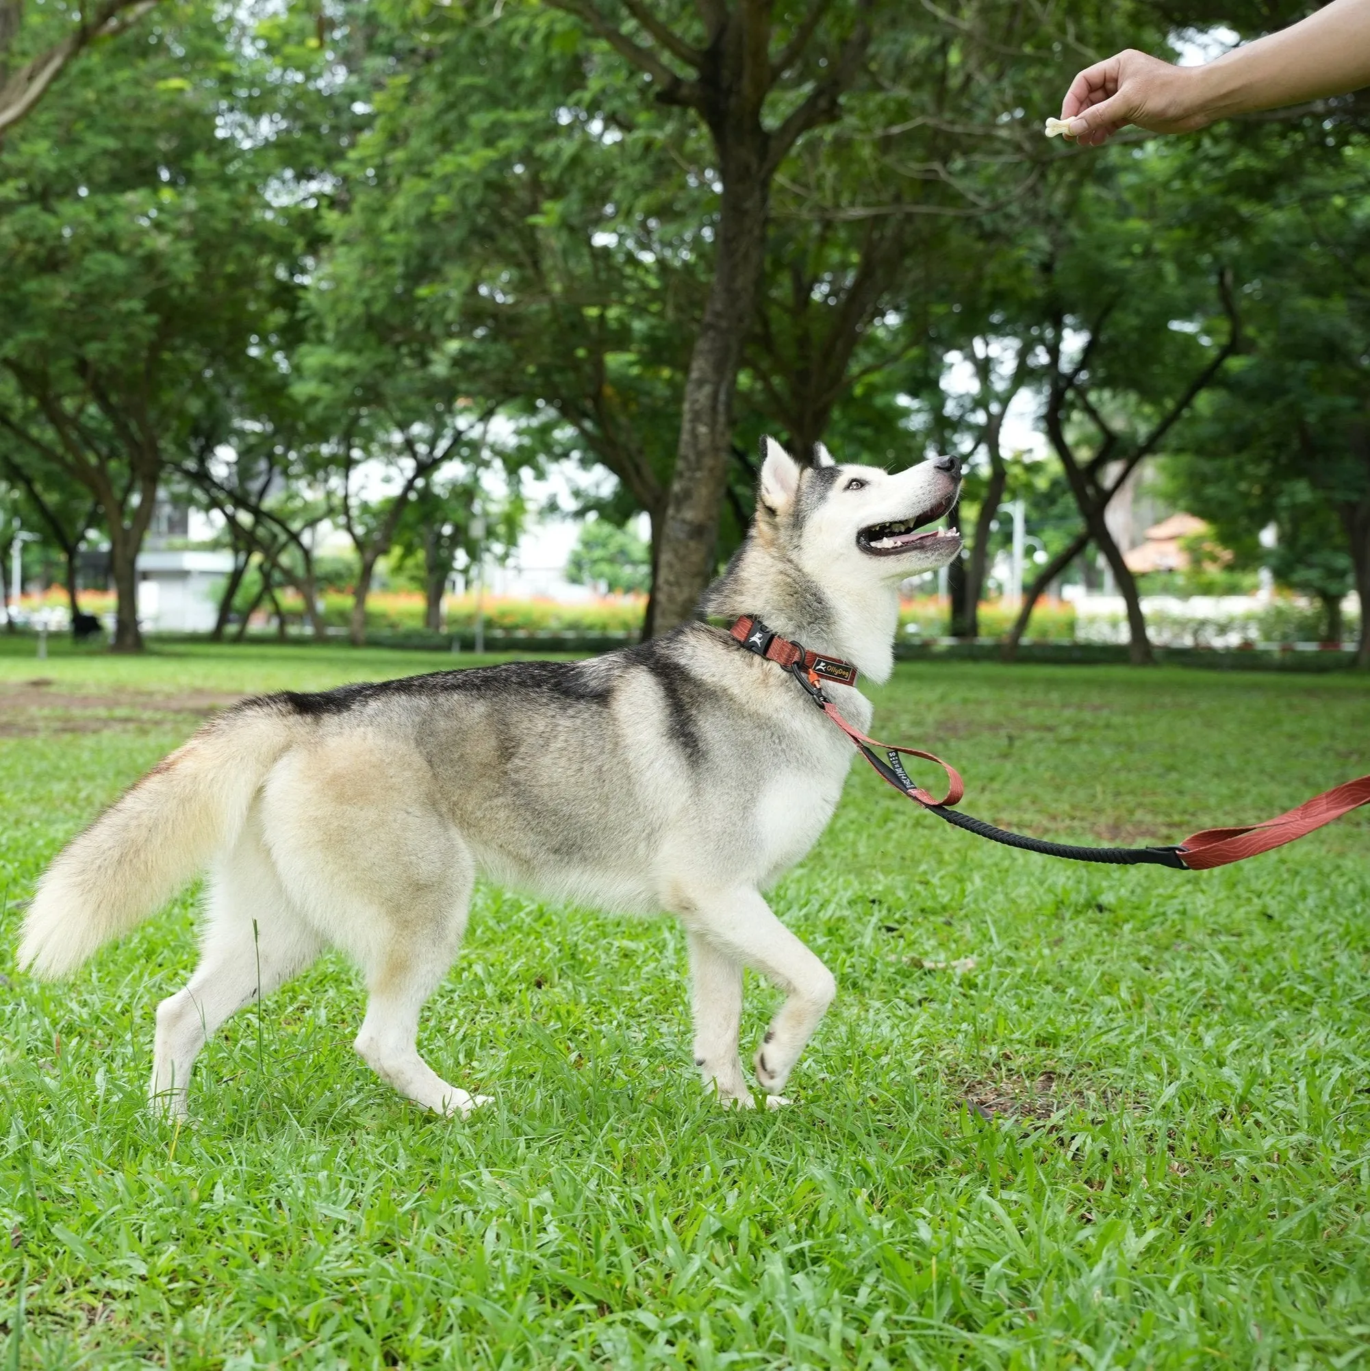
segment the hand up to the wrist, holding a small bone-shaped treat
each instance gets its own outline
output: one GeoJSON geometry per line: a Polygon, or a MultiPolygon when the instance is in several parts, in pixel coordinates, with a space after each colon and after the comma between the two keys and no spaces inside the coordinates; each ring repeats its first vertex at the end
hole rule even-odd
{"type": "Polygon", "coordinates": [[[1097,148],[1121,128],[1191,133],[1211,122],[1200,104],[1203,67],[1175,67],[1128,48],[1085,67],[1060,103],[1067,136],[1097,148]]]}

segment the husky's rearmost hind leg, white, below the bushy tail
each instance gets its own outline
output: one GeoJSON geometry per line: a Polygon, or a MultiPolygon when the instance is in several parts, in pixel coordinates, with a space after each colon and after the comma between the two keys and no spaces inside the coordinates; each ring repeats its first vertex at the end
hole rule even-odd
{"type": "Polygon", "coordinates": [[[215,868],[206,903],[200,964],[158,1005],[148,1095],[155,1111],[174,1117],[185,1116],[190,1068],[215,1030],[308,967],[321,947],[281,888],[256,814],[215,868]]]}

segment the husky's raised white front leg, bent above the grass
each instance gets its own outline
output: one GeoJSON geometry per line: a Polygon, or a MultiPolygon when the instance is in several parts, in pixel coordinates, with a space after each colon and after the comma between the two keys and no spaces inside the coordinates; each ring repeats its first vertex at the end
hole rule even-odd
{"type": "Polygon", "coordinates": [[[773,913],[751,888],[690,893],[681,910],[686,927],[721,951],[759,971],[785,991],[785,1004],[766,1030],[752,1058],[756,1080],[778,1097],[804,1045],[837,994],[833,973],[773,913]]]}

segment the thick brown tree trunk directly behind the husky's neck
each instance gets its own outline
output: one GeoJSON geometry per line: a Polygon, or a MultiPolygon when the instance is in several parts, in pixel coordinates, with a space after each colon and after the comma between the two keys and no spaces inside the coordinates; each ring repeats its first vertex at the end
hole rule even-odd
{"type": "Polygon", "coordinates": [[[759,138],[737,134],[732,147],[723,144],[723,203],[714,280],[685,380],[675,470],[655,551],[651,635],[692,618],[714,572],[718,511],[727,483],[733,392],[766,252],[763,159],[759,138]]]}

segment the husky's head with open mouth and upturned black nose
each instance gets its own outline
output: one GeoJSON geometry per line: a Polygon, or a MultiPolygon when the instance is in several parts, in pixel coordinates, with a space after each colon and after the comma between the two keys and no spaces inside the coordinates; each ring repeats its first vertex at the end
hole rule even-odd
{"type": "Polygon", "coordinates": [[[819,585],[901,581],[945,566],[960,551],[955,529],[934,528],[960,495],[960,462],[937,457],[891,476],[834,462],[819,443],[814,462],[762,440],[756,537],[819,585]]]}

